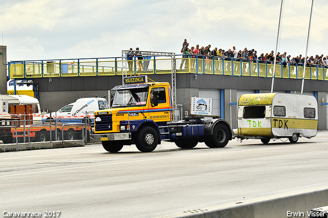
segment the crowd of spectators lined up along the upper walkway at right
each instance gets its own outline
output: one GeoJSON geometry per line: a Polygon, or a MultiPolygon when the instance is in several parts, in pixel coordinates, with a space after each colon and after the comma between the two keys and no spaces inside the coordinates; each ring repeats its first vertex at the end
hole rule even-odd
{"type": "MultiPolygon", "coordinates": [[[[187,42],[187,39],[185,39],[182,43],[182,49],[181,53],[183,54],[182,58],[188,58],[191,57],[191,68],[195,69],[195,57],[198,56],[198,59],[202,61],[202,59],[206,59],[205,61],[205,67],[210,69],[211,64],[209,64],[210,60],[234,60],[234,61],[242,61],[242,62],[253,62],[253,63],[268,63],[273,64],[274,61],[276,61],[276,64],[282,64],[283,67],[286,67],[288,65],[290,66],[303,66],[305,62],[306,67],[320,67],[320,68],[328,68],[328,55],[326,57],[319,55],[314,56],[307,56],[302,57],[300,54],[299,56],[292,57],[291,55],[287,55],[286,52],[283,54],[280,54],[277,52],[276,57],[274,57],[274,51],[271,51],[270,53],[261,53],[259,56],[257,54],[257,51],[254,49],[248,50],[247,48],[244,48],[243,50],[237,50],[235,46],[232,49],[228,49],[227,51],[223,49],[217,49],[214,48],[211,50],[211,45],[208,45],[206,47],[199,48],[199,45],[196,45],[195,47],[188,48],[189,43],[187,42]]],[[[180,69],[183,67],[184,59],[182,59],[180,64],[180,69]]],[[[198,64],[199,68],[201,69],[202,64],[198,64]]],[[[185,62],[185,69],[187,69],[188,61],[185,62]]]]}

